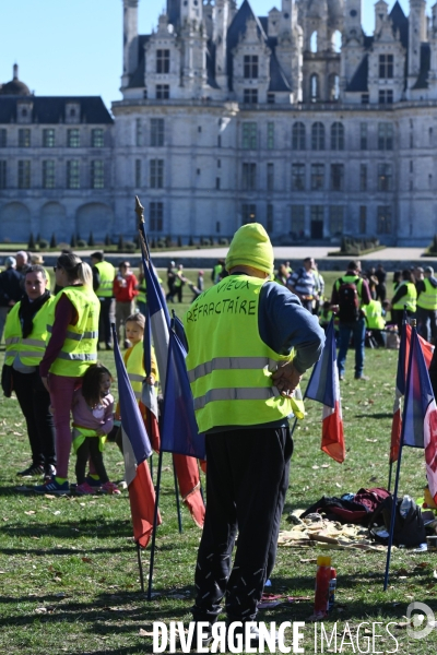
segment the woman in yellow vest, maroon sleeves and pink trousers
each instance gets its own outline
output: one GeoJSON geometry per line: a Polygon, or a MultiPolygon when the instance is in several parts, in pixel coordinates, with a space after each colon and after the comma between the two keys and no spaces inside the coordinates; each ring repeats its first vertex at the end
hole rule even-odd
{"type": "Polygon", "coordinates": [[[61,254],[55,275],[61,290],[50,308],[49,341],[39,372],[50,392],[54,409],[57,475],[34,490],[37,493],[63,495],[70,492],[68,465],[73,394],[87,368],[97,361],[101,303],[93,291],[91,266],[75,254],[61,254]]]}

